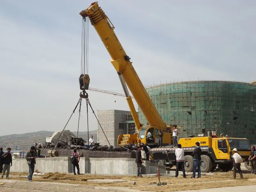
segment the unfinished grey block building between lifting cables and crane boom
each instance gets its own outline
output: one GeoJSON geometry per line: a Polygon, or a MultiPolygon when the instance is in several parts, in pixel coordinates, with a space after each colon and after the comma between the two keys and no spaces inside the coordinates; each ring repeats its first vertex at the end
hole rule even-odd
{"type": "MultiPolygon", "coordinates": [[[[130,111],[103,110],[98,111],[98,119],[104,130],[110,145],[117,145],[120,134],[133,134],[136,132],[135,124],[130,111]]],[[[98,141],[101,145],[109,145],[108,141],[98,125],[98,141]]]]}

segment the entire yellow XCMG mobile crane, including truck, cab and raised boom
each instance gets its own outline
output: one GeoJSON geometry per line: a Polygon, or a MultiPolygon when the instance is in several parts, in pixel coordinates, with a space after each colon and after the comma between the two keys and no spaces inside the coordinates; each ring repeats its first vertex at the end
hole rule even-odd
{"type": "MultiPolygon", "coordinates": [[[[119,79],[124,89],[126,100],[130,107],[132,117],[134,119],[137,133],[133,135],[119,135],[118,145],[126,143],[148,143],[149,146],[155,147],[158,143],[158,130],[162,129],[165,133],[163,136],[163,145],[172,144],[172,128],[167,126],[159,115],[156,107],[140,81],[135,69],[132,66],[130,57],[125,53],[120,44],[116,34],[114,33],[114,26],[108,19],[107,15],[102,11],[97,2],[92,3],[87,9],[80,12],[80,15],[86,19],[89,18],[91,24],[96,29],[108,53],[111,56],[111,63],[117,71],[119,79]],[[149,125],[141,125],[136,110],[134,108],[132,98],[128,92],[127,86],[142,113],[146,117],[149,125]],[[152,138],[148,138],[148,132],[151,133],[152,138]]],[[[85,76],[86,77],[86,76],[85,76]]],[[[85,84],[89,84],[89,78],[84,79],[85,84]]],[[[81,88],[80,88],[81,89],[81,88]]],[[[88,86],[85,87],[88,89],[88,86]]],[[[210,134],[210,133],[209,133],[210,134]]],[[[201,170],[202,172],[209,172],[216,168],[217,164],[223,171],[232,169],[231,161],[232,149],[237,148],[244,161],[248,161],[250,154],[250,145],[245,138],[228,138],[217,137],[216,135],[203,135],[198,137],[181,138],[179,143],[185,152],[185,170],[191,171],[193,165],[192,152],[195,148],[195,142],[200,142],[202,148],[201,170]]],[[[154,160],[158,164],[166,164],[172,167],[176,163],[175,148],[153,148],[151,151],[154,154],[154,160]]]]}

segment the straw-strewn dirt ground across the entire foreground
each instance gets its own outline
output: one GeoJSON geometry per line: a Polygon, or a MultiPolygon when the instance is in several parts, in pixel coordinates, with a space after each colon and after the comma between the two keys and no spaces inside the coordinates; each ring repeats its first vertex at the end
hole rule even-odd
{"type": "MultiPolygon", "coordinates": [[[[11,175],[10,179],[26,181],[26,176],[28,173],[15,173],[11,175]]],[[[137,178],[135,176],[105,176],[105,175],[73,175],[65,173],[47,173],[45,175],[33,177],[33,181],[47,181],[47,182],[60,182],[60,183],[70,183],[70,184],[82,184],[84,187],[70,187],[70,186],[49,186],[45,184],[31,185],[31,182],[27,184],[13,184],[4,183],[0,186],[0,191],[13,191],[11,189],[17,189],[20,192],[22,190],[34,190],[36,192],[41,191],[52,191],[52,192],[63,192],[63,191],[92,191],[93,188],[99,187],[125,187],[129,189],[137,189],[142,191],[157,191],[157,192],[167,192],[167,191],[179,191],[179,190],[196,190],[205,188],[218,188],[218,187],[233,187],[233,186],[244,186],[252,185],[256,182],[256,175],[251,175],[250,171],[243,171],[244,179],[240,179],[239,174],[236,176],[236,180],[233,179],[233,172],[214,172],[213,175],[202,175],[201,179],[191,179],[191,175],[188,178],[182,178],[179,175],[178,179],[174,177],[161,177],[160,181],[166,182],[167,185],[157,186],[159,183],[158,178],[154,177],[142,177],[137,178]],[[123,182],[113,183],[113,182],[94,182],[92,179],[123,179],[123,182]],[[135,181],[136,184],[133,185],[132,182],[135,181]]],[[[0,180],[1,183],[1,180],[0,180]]],[[[65,185],[65,184],[64,184],[65,185]]],[[[16,192],[16,190],[14,190],[16,192]]],[[[109,189],[97,189],[97,192],[111,191],[109,189]]],[[[114,191],[122,191],[115,189],[114,191]]]]}

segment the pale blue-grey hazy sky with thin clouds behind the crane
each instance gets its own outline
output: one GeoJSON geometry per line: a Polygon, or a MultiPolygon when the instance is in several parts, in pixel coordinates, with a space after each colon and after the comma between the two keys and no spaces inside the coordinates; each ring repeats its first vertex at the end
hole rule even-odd
{"type": "MultiPolygon", "coordinates": [[[[64,128],[80,92],[79,12],[91,3],[1,0],[0,135],[64,128]]],[[[99,5],[115,26],[116,36],[145,85],[256,79],[253,0],[102,0],[99,5]]],[[[89,25],[90,87],[122,93],[110,59],[89,25]]],[[[96,115],[97,110],[129,110],[124,97],[88,94],[96,115]]],[[[89,130],[98,129],[90,109],[88,116],[89,130]]],[[[66,129],[77,130],[77,122],[78,110],[66,129]]],[[[79,131],[86,130],[83,101],[79,131]]]]}

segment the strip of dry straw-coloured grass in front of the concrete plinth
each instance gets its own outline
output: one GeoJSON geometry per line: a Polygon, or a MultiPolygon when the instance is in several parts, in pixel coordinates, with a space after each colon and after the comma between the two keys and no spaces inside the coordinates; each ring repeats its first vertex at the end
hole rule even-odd
{"type": "MultiPolygon", "coordinates": [[[[26,173],[27,175],[27,173],[26,173]]],[[[65,173],[48,173],[37,178],[33,178],[34,181],[50,181],[72,184],[83,184],[86,186],[105,186],[105,187],[128,187],[131,189],[149,190],[157,192],[166,191],[178,191],[178,190],[193,190],[193,189],[205,189],[205,188],[218,188],[218,187],[231,187],[231,186],[243,186],[252,185],[255,183],[256,176],[251,174],[244,174],[244,180],[240,179],[237,174],[237,179],[233,180],[233,172],[217,172],[214,175],[202,175],[201,179],[184,179],[180,175],[178,179],[174,177],[161,177],[160,181],[166,182],[165,186],[156,186],[158,183],[157,177],[143,177],[136,178],[135,176],[105,176],[105,175],[73,175],[65,173]],[[103,183],[92,182],[91,179],[123,179],[127,180],[122,183],[103,183]],[[131,181],[135,181],[136,185],[133,185],[131,181]],[[202,183],[203,182],[203,183],[202,183]]],[[[18,180],[26,180],[26,178],[15,178],[18,180]]]]}

